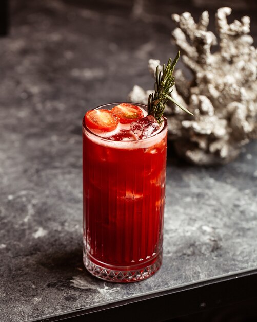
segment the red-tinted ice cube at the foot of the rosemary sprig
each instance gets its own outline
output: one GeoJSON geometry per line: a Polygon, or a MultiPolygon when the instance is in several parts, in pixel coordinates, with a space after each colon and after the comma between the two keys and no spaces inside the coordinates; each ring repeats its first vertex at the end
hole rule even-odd
{"type": "Polygon", "coordinates": [[[159,128],[158,122],[152,115],[147,115],[130,124],[130,130],[139,140],[151,136],[159,128]]]}

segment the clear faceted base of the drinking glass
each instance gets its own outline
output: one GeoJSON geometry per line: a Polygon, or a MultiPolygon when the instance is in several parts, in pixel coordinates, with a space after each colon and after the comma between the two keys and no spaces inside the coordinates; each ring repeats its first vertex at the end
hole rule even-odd
{"type": "MultiPolygon", "coordinates": [[[[122,270],[120,266],[119,270],[115,270],[97,265],[92,262],[85,250],[83,261],[88,272],[100,279],[116,283],[131,283],[146,279],[158,271],[162,265],[162,253],[156,257],[154,263],[141,267],[140,269],[132,269],[132,267],[130,269],[129,266],[126,266],[124,267],[126,270],[122,270]]],[[[110,265],[108,266],[110,267],[110,265]]]]}

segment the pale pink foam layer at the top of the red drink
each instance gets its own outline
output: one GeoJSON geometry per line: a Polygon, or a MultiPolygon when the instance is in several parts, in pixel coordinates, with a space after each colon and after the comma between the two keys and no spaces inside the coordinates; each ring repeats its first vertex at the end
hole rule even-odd
{"type": "MultiPolygon", "coordinates": [[[[145,111],[141,106],[138,106],[144,113],[144,116],[147,116],[147,111],[145,111]]],[[[121,140],[121,141],[114,141],[114,140],[108,140],[107,137],[110,137],[112,135],[115,135],[119,133],[121,130],[130,130],[130,123],[128,124],[122,124],[119,123],[117,128],[111,132],[97,132],[93,129],[90,129],[90,132],[86,131],[85,128],[83,128],[83,132],[85,133],[90,140],[93,142],[110,147],[110,148],[117,148],[117,149],[142,149],[142,148],[149,148],[156,143],[160,142],[166,135],[167,133],[167,128],[165,131],[162,132],[164,128],[164,123],[165,121],[162,122],[161,127],[152,133],[151,136],[145,138],[145,139],[140,139],[140,140],[121,140]],[[159,134],[162,132],[162,135],[159,136],[159,134]]]]}

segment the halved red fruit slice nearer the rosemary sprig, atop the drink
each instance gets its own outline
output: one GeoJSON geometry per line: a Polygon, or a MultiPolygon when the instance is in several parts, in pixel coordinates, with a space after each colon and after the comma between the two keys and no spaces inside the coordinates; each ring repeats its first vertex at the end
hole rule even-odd
{"type": "Polygon", "coordinates": [[[123,124],[134,122],[144,117],[143,111],[136,105],[122,103],[111,109],[111,112],[116,115],[123,124]]]}

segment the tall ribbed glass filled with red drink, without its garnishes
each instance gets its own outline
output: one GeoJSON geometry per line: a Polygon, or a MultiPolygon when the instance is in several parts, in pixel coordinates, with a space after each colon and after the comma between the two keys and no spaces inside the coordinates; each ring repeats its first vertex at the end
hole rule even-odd
{"type": "Polygon", "coordinates": [[[160,268],[166,150],[165,118],[156,134],[139,140],[101,137],[83,119],[84,264],[91,274],[134,282],[160,268]]]}

